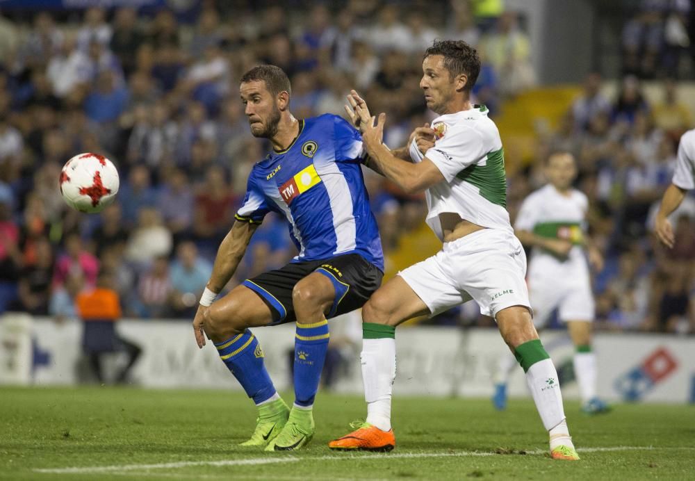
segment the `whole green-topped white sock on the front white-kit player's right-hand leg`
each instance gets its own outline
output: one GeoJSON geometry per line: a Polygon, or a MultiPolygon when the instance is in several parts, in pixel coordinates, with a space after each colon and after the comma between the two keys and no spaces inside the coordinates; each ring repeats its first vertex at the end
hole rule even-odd
{"type": "Polygon", "coordinates": [[[565,418],[557,370],[553,361],[543,348],[540,339],[518,345],[514,354],[526,373],[526,383],[536,403],[543,426],[550,431],[565,418]]]}

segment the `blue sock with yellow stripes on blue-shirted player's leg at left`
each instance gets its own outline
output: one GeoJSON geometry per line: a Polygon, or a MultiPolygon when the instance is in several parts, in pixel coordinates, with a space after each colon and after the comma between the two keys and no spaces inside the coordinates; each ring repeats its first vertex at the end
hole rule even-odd
{"type": "Polygon", "coordinates": [[[263,350],[249,329],[237,336],[215,343],[220,359],[234,374],[256,405],[275,395],[275,386],[263,363],[263,350]]]}

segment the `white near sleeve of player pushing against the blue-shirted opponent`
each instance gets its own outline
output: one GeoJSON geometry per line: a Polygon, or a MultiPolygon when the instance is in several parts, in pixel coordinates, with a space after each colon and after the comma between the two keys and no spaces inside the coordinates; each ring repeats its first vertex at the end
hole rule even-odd
{"type": "Polygon", "coordinates": [[[484,142],[480,133],[470,127],[457,130],[449,127],[449,132],[425,152],[425,157],[436,165],[446,181],[452,181],[457,174],[473,165],[484,156],[484,142]]]}

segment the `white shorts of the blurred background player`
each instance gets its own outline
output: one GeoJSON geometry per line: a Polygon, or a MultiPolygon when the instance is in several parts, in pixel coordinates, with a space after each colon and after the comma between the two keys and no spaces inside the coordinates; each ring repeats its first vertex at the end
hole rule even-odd
{"type": "Polygon", "coordinates": [[[536,327],[544,327],[555,309],[557,317],[563,323],[568,320],[594,320],[595,304],[591,281],[579,273],[571,279],[571,282],[562,282],[557,277],[529,277],[528,291],[536,327]]]}

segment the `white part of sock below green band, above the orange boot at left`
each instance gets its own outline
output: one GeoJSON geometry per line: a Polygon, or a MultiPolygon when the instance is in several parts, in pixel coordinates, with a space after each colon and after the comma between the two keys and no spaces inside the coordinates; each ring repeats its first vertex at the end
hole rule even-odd
{"type": "Polygon", "coordinates": [[[367,422],[391,430],[391,391],[395,380],[395,339],[362,339],[360,354],[367,422]]]}

